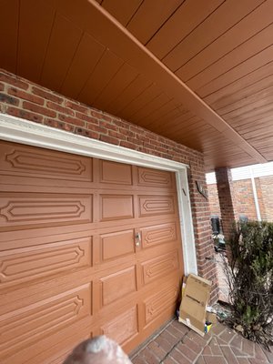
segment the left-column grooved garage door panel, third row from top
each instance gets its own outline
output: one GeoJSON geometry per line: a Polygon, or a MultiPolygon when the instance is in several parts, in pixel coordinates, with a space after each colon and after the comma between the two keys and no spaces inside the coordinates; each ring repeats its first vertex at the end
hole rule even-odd
{"type": "Polygon", "coordinates": [[[21,247],[0,252],[1,288],[92,267],[92,238],[21,247]]]}

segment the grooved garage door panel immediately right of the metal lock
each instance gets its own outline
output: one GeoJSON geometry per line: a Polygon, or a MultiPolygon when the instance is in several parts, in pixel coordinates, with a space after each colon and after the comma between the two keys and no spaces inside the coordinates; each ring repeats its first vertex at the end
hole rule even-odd
{"type": "Polygon", "coordinates": [[[168,223],[151,227],[141,227],[142,247],[150,248],[177,240],[177,224],[168,223]]]}

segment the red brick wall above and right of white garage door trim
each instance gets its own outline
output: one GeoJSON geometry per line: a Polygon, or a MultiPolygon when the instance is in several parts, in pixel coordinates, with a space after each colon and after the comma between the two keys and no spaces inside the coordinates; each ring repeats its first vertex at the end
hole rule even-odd
{"type": "Polygon", "coordinates": [[[0,70],[0,112],[189,165],[188,181],[198,272],[213,280],[211,298],[217,298],[216,266],[205,259],[214,255],[209,205],[207,199],[197,192],[195,183],[199,181],[206,187],[201,153],[118,117],[79,104],[4,70],[0,70]]]}

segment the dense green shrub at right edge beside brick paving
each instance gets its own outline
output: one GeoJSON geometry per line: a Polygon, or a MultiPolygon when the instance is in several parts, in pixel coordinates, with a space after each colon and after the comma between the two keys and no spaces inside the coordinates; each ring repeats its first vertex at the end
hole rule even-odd
{"type": "Polygon", "coordinates": [[[227,241],[229,322],[248,339],[272,342],[273,223],[238,222],[227,241]]]}

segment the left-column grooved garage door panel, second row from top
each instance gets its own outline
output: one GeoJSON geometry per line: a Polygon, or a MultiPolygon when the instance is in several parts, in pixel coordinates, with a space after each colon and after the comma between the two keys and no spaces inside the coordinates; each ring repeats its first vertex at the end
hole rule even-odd
{"type": "Polygon", "coordinates": [[[92,222],[92,196],[0,194],[0,227],[52,227],[87,222],[92,222]]]}

